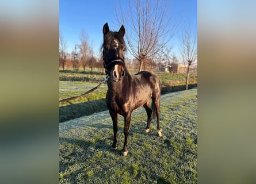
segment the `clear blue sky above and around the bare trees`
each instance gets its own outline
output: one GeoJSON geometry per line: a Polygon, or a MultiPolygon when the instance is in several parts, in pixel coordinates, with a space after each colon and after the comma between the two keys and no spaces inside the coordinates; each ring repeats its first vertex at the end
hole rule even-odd
{"type": "MultiPolygon", "coordinates": [[[[103,25],[108,22],[110,30],[117,30],[121,26],[114,22],[114,7],[117,3],[118,0],[59,1],[59,30],[67,43],[68,52],[74,49],[75,44],[79,44],[79,34],[85,29],[89,36],[89,44],[93,47],[94,54],[98,55],[103,40],[103,25]]],[[[197,29],[197,1],[175,0],[172,4],[174,16],[182,14],[182,20],[197,29]]],[[[173,52],[178,55],[177,44],[178,35],[170,40],[173,52]]]]}

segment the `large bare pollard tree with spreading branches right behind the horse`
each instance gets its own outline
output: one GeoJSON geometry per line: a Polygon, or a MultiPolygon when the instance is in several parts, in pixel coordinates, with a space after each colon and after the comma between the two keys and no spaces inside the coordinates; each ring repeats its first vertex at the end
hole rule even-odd
{"type": "Polygon", "coordinates": [[[172,21],[168,2],[133,0],[128,8],[121,3],[116,8],[116,20],[128,28],[125,31],[128,51],[139,60],[139,71],[177,33],[177,21],[172,21]]]}

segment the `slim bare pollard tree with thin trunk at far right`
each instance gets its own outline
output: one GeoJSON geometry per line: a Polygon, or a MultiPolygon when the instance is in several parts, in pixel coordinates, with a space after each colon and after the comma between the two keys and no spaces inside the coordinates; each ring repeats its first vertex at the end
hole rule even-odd
{"type": "Polygon", "coordinates": [[[184,64],[188,66],[186,71],[186,90],[188,90],[190,66],[197,60],[197,34],[193,33],[190,27],[185,28],[182,33],[179,51],[184,64]]]}

